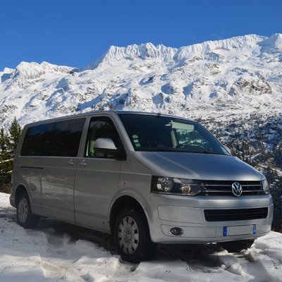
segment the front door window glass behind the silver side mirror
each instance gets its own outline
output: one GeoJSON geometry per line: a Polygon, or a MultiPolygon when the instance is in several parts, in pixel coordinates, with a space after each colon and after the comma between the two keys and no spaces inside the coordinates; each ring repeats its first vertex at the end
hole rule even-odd
{"type": "Polygon", "coordinates": [[[112,159],[113,155],[95,152],[94,144],[98,138],[110,138],[116,147],[121,147],[121,139],[109,118],[92,118],[87,132],[85,156],[90,158],[112,159]]]}

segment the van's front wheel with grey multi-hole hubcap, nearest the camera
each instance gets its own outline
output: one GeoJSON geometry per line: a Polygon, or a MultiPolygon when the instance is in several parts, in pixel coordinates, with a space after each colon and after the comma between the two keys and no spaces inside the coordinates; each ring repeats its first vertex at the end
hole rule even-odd
{"type": "Polygon", "coordinates": [[[151,259],[157,251],[152,243],[147,220],[136,209],[122,209],[114,226],[114,241],[121,258],[137,264],[151,259]]]}

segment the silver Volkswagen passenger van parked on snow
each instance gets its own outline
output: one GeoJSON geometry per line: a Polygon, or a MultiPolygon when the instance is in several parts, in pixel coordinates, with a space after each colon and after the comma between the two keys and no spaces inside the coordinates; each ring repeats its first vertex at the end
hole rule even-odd
{"type": "Polygon", "coordinates": [[[157,243],[221,243],[238,252],[271,230],[266,178],[200,123],[102,111],[25,125],[10,202],[24,228],[39,216],[111,233],[121,257],[157,243]]]}

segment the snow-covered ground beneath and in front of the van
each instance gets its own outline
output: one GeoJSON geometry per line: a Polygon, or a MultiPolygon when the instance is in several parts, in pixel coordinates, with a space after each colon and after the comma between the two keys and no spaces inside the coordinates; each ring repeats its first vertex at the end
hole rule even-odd
{"type": "Polygon", "coordinates": [[[150,262],[122,262],[109,238],[85,228],[42,219],[35,230],[16,223],[0,193],[1,282],[282,281],[282,234],[271,232],[245,252],[218,245],[164,245],[150,262]]]}

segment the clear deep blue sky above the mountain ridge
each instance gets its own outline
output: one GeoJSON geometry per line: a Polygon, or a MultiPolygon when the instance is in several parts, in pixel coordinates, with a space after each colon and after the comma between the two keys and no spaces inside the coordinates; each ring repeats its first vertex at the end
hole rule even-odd
{"type": "Polygon", "coordinates": [[[82,67],[111,45],[181,47],[282,33],[281,0],[5,0],[0,71],[21,61],[82,67]]]}

